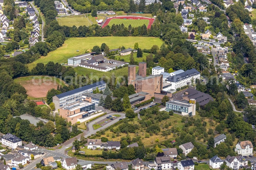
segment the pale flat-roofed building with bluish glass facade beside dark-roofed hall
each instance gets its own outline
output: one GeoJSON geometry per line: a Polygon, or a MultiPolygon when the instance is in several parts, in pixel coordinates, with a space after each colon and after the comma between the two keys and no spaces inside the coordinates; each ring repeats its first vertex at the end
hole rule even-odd
{"type": "Polygon", "coordinates": [[[170,100],[165,103],[165,110],[167,112],[173,111],[174,113],[181,114],[183,116],[194,116],[196,115],[196,104],[178,101],[178,100],[170,100]]]}

